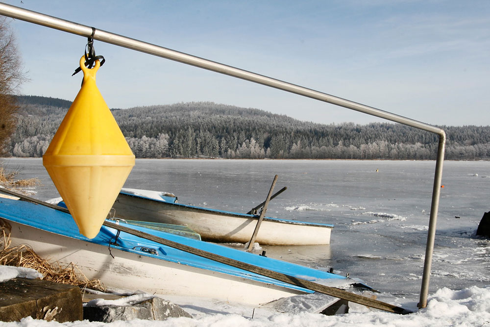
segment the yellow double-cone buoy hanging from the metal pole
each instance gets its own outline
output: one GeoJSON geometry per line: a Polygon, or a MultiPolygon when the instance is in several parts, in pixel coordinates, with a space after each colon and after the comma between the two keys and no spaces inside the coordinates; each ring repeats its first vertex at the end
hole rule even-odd
{"type": "Polygon", "coordinates": [[[134,154],[84,65],[83,84],[43,155],[43,165],[80,233],[97,236],[134,166],[134,154]]]}

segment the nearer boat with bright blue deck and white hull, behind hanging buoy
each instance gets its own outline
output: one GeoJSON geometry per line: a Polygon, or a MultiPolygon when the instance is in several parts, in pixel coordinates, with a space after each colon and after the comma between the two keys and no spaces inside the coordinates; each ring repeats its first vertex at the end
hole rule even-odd
{"type": "MultiPolygon", "coordinates": [[[[87,239],[79,234],[69,214],[39,204],[0,199],[0,217],[10,225],[13,245],[26,243],[51,261],[73,262],[86,277],[98,278],[111,288],[216,298],[253,305],[312,293],[126,233],[121,233],[116,240],[117,231],[106,226],[102,226],[94,239],[87,239]],[[109,246],[111,242],[116,244],[109,246]]],[[[327,282],[333,286],[351,282],[342,276],[288,262],[142,226],[127,226],[294,277],[327,282]]]]}

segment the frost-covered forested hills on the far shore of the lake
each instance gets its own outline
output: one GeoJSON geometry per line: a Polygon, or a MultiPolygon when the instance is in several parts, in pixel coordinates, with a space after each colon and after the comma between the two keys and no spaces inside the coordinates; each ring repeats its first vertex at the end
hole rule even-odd
{"type": "MultiPolygon", "coordinates": [[[[21,96],[10,154],[41,156],[71,102],[21,96]]],[[[112,109],[137,157],[435,159],[438,136],[395,123],[316,124],[213,102],[112,109]]],[[[447,159],[489,159],[490,126],[441,126],[447,159]]]]}

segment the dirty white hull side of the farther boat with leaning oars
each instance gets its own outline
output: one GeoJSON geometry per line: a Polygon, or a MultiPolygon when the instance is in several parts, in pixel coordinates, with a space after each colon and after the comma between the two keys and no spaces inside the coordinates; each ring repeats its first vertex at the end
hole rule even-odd
{"type": "MultiPolygon", "coordinates": [[[[257,216],[233,214],[120,194],[113,205],[115,216],[127,220],[185,225],[205,241],[246,243],[257,225],[257,216]]],[[[261,245],[330,244],[332,226],[264,218],[255,242],[261,245]]]]}

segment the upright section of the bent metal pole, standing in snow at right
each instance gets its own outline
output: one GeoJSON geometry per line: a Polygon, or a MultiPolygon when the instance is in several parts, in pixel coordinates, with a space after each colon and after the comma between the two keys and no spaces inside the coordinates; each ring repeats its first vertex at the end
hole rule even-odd
{"type": "Polygon", "coordinates": [[[425,246],[424,271],[422,274],[422,287],[420,289],[420,300],[418,308],[427,306],[427,295],[429,293],[429,278],[432,266],[432,253],[434,252],[434,240],[436,238],[437,213],[439,209],[439,197],[441,194],[442,163],[444,161],[444,148],[446,144],[446,134],[439,136],[439,147],[437,150],[436,173],[434,175],[434,188],[432,190],[432,204],[430,208],[429,230],[427,231],[427,244],[425,246]]]}

